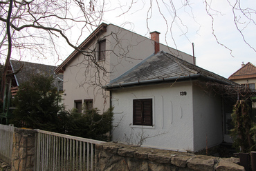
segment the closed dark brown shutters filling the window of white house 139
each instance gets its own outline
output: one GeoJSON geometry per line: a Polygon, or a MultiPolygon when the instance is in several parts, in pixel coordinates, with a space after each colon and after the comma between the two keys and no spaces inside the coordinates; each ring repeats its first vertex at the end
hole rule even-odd
{"type": "Polygon", "coordinates": [[[134,99],[133,125],[153,125],[152,99],[134,99]]]}

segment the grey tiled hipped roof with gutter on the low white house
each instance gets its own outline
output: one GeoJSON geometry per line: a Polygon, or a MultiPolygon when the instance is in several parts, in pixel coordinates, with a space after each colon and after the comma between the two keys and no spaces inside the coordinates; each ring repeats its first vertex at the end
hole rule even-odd
{"type": "Polygon", "coordinates": [[[105,89],[124,88],[126,86],[138,86],[149,83],[159,83],[163,81],[184,81],[191,79],[208,79],[227,85],[236,83],[204,70],[198,66],[183,61],[167,52],[152,54],[147,59],[138,63],[120,77],[113,79],[105,89]]]}

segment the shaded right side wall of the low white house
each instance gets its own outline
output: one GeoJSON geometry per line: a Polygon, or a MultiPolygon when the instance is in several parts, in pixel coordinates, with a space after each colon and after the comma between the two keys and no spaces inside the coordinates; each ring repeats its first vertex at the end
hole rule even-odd
{"type": "Polygon", "coordinates": [[[193,86],[195,151],[210,148],[223,141],[221,108],[221,98],[217,94],[203,90],[200,86],[193,86]]]}

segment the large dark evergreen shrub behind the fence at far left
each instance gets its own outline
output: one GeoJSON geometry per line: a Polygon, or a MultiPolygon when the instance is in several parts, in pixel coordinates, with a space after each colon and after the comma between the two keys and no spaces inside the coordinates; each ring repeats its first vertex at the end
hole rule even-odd
{"type": "Polygon", "coordinates": [[[13,101],[16,110],[11,123],[17,127],[57,130],[57,113],[62,106],[58,105],[60,97],[57,88],[52,86],[53,80],[46,74],[34,74],[19,86],[13,101]]]}

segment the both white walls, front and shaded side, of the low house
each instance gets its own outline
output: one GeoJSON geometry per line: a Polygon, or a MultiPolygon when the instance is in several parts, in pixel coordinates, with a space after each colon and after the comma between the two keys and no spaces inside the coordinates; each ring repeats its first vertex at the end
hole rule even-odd
{"type": "Polygon", "coordinates": [[[136,143],[136,135],[148,134],[143,145],[170,150],[198,151],[223,141],[221,99],[208,94],[195,81],[112,90],[113,141],[136,143]],[[180,92],[186,92],[181,96],[180,92]],[[133,99],[153,99],[154,126],[132,125],[133,99]],[[130,141],[125,134],[133,137],[130,141]],[[162,134],[154,137],[154,135],[162,134]],[[207,134],[207,138],[206,138],[207,134]]]}

